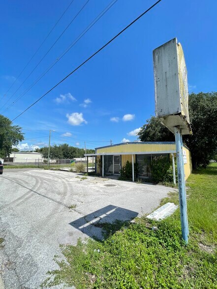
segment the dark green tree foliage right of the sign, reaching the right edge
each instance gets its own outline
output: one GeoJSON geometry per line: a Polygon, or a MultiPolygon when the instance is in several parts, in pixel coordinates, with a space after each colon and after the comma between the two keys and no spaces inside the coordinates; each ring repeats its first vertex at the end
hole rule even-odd
{"type": "Polygon", "coordinates": [[[217,92],[189,95],[189,116],[193,134],[184,136],[193,167],[206,166],[217,154],[217,92]]]}

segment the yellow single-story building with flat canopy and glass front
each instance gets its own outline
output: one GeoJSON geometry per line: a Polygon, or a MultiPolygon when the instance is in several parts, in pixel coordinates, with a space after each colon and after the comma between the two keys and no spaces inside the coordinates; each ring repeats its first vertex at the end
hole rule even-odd
{"type": "MultiPolygon", "coordinates": [[[[190,150],[183,145],[185,178],[192,171],[190,150]]],[[[176,157],[175,142],[129,142],[117,145],[108,145],[95,148],[94,154],[86,154],[87,158],[95,156],[95,172],[102,176],[107,174],[119,175],[120,170],[126,164],[126,161],[138,164],[138,177],[148,178],[151,176],[151,165],[153,159],[176,157]]],[[[134,168],[133,168],[134,171],[134,168]]],[[[134,173],[132,175],[134,181],[134,173]]]]}

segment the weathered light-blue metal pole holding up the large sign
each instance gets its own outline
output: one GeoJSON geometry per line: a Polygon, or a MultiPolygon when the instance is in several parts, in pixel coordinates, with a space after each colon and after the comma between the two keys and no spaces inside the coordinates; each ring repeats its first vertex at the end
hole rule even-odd
{"type": "Polygon", "coordinates": [[[184,160],[182,153],[182,134],[179,127],[175,127],[175,140],[176,140],[176,156],[177,156],[177,171],[178,171],[178,184],[179,184],[179,202],[180,202],[180,215],[182,236],[185,243],[188,243],[188,221],[187,221],[187,202],[186,202],[186,183],[184,173],[184,160]]]}

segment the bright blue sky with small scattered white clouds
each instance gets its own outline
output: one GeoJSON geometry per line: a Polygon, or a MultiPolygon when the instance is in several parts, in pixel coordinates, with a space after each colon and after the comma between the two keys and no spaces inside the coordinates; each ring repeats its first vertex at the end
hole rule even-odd
{"type": "MultiPolygon", "coordinates": [[[[113,0],[114,5],[31,87],[110,2],[1,1],[0,114],[11,120],[18,116],[155,3],[113,0]]],[[[20,125],[25,133],[18,148],[31,150],[48,145],[49,130],[52,145],[67,143],[83,148],[86,142],[86,147],[93,149],[110,145],[111,140],[113,144],[137,140],[140,127],[155,115],[152,52],[174,37],[184,50],[188,91],[217,91],[216,10],[216,0],[161,0],[14,120],[13,124],[20,125]]]]}

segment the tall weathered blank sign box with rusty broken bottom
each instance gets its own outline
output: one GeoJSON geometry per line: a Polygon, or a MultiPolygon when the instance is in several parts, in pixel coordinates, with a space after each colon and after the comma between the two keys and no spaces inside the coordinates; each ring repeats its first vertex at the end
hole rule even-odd
{"type": "Polygon", "coordinates": [[[155,78],[155,113],[174,133],[191,134],[188,114],[187,70],[183,49],[174,38],[153,51],[155,78]]]}

